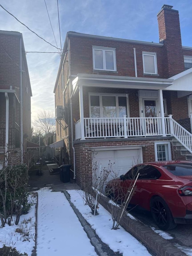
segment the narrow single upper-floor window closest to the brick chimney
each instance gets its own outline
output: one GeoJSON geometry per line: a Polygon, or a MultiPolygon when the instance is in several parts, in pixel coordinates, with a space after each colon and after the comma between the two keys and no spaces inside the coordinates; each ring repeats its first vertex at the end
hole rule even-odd
{"type": "Polygon", "coordinates": [[[157,74],[156,53],[142,52],[142,55],[143,55],[143,73],[157,74]]]}

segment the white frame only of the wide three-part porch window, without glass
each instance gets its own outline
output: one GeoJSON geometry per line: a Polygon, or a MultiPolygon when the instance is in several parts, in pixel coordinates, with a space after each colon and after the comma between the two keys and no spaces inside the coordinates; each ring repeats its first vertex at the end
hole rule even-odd
{"type": "Polygon", "coordinates": [[[89,116],[91,118],[91,97],[90,96],[99,96],[99,104],[100,104],[100,118],[110,118],[110,117],[103,117],[103,110],[102,110],[102,96],[115,96],[116,97],[116,113],[117,117],[119,118],[119,104],[118,104],[118,97],[126,97],[127,99],[127,117],[130,116],[129,113],[129,95],[128,94],[109,94],[109,93],[89,93],[89,116]]]}

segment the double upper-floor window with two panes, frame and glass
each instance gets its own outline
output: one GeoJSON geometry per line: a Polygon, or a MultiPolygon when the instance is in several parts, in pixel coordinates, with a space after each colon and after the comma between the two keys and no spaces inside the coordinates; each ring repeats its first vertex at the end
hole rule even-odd
{"type": "Polygon", "coordinates": [[[93,46],[93,69],[116,71],[115,49],[93,46]]]}

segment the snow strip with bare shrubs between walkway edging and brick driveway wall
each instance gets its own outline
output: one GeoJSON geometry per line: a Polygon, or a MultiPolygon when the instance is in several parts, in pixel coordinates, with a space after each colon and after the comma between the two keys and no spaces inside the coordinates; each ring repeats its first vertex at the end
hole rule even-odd
{"type": "Polygon", "coordinates": [[[99,206],[99,215],[93,216],[90,213],[90,208],[82,203],[82,197],[80,196],[82,191],[68,190],[67,192],[70,194],[71,202],[91,225],[91,228],[113,251],[119,251],[123,256],[151,255],[145,246],[122,227],[118,230],[111,229],[113,223],[111,215],[103,206],[99,206]]]}

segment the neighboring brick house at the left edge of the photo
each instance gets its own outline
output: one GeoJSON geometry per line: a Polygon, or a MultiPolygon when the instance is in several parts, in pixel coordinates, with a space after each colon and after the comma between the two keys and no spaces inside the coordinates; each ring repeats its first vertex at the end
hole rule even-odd
{"type": "Polygon", "coordinates": [[[9,149],[15,163],[25,161],[31,135],[31,85],[22,34],[0,31],[0,164],[9,149]]]}

